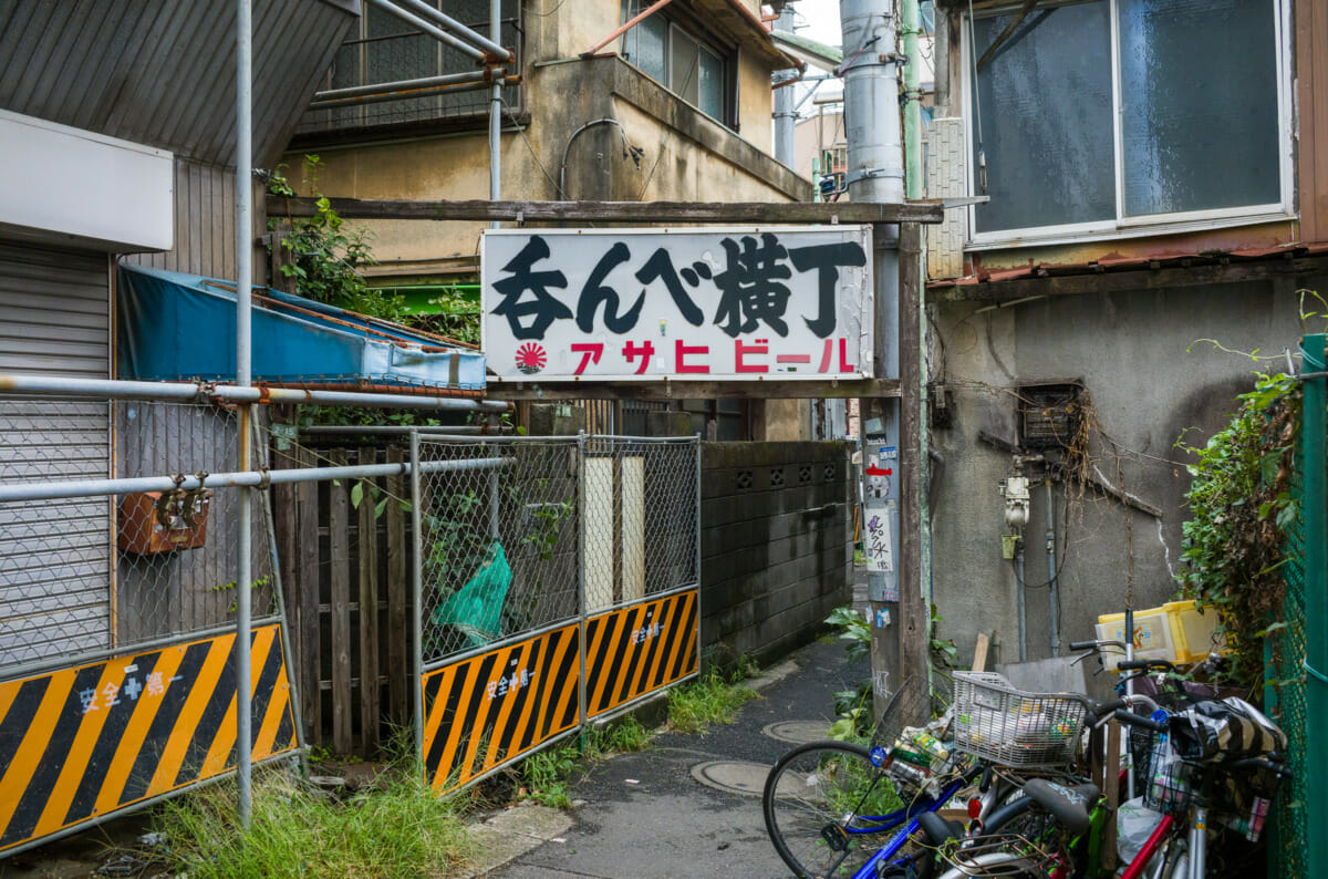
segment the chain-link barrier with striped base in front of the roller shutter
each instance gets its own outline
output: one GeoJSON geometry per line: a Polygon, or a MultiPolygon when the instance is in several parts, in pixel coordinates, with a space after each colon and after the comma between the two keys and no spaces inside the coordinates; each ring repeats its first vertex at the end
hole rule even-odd
{"type": "MultiPolygon", "coordinates": [[[[116,426],[117,477],[235,469],[234,408],[0,398],[0,489],[84,475],[60,449],[96,445],[82,414],[97,406],[116,426]]],[[[105,487],[0,501],[0,858],[235,770],[239,495],[170,501],[105,487]]],[[[293,756],[299,733],[258,493],[252,505],[259,763],[293,756]]]]}

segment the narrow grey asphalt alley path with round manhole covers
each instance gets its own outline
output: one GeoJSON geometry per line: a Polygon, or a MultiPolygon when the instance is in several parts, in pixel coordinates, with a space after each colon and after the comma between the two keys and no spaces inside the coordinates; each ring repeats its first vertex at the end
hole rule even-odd
{"type": "Polygon", "coordinates": [[[645,752],[595,766],[575,782],[584,802],[572,811],[571,829],[489,875],[788,876],[761,817],[765,774],[795,741],[825,738],[834,693],[866,679],[869,664],[850,665],[841,641],[822,641],[770,673],[785,671],[737,722],[704,734],[667,733],[645,752]]]}

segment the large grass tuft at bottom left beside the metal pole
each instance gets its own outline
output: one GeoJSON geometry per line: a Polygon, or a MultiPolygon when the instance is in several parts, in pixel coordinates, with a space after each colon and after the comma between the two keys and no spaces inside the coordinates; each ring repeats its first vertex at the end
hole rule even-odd
{"type": "Polygon", "coordinates": [[[471,842],[449,799],[422,781],[400,778],[344,802],[272,774],[254,786],[248,831],[234,783],[166,803],[154,818],[174,864],[197,878],[441,875],[463,864],[471,842]]]}

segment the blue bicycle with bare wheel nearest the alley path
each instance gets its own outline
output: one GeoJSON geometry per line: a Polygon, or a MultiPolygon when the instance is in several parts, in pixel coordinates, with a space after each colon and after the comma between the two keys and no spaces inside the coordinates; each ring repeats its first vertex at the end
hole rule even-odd
{"type": "Polygon", "coordinates": [[[871,749],[841,741],[811,742],[790,750],[770,770],[761,802],[765,827],[795,876],[927,879],[934,852],[920,844],[919,817],[944,807],[979,777],[981,802],[973,809],[985,811],[991,806],[987,801],[995,801],[995,786],[983,765],[930,778],[920,786],[891,775],[890,746],[904,718],[919,722],[930,714],[930,705],[916,704],[923,700],[910,701],[907,694],[915,692],[906,684],[890,700],[871,749]]]}

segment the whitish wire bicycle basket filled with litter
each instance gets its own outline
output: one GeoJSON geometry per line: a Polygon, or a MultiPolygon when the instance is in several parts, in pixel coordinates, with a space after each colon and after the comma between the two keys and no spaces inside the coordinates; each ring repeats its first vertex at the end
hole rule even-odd
{"type": "Polygon", "coordinates": [[[1024,693],[993,672],[955,672],[955,748],[1005,766],[1061,766],[1074,758],[1088,706],[1074,693],[1024,693]]]}

